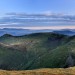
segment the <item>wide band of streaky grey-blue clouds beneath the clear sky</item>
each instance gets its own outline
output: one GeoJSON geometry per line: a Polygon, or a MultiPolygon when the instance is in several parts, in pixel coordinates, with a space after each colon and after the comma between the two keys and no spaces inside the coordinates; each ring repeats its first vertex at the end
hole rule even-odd
{"type": "Polygon", "coordinates": [[[0,18],[0,28],[24,28],[24,29],[64,29],[75,28],[75,16],[41,13],[7,13],[0,18]]]}

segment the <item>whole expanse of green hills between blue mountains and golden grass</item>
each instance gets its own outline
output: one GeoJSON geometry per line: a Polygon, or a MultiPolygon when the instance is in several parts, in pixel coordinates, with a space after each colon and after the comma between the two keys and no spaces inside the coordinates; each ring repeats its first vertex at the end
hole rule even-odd
{"type": "Polygon", "coordinates": [[[0,69],[63,68],[75,65],[75,36],[35,33],[0,37],[0,69]]]}

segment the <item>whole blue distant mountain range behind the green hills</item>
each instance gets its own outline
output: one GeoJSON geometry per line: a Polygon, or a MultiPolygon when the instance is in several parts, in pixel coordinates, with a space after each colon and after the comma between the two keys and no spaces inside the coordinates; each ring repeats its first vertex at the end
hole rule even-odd
{"type": "Polygon", "coordinates": [[[64,34],[73,36],[75,35],[75,29],[62,29],[62,30],[51,30],[51,29],[44,29],[44,30],[30,30],[30,29],[15,29],[15,28],[3,28],[0,29],[0,36],[4,34],[11,34],[13,36],[22,36],[31,33],[40,33],[40,32],[53,32],[58,34],[64,34]]]}

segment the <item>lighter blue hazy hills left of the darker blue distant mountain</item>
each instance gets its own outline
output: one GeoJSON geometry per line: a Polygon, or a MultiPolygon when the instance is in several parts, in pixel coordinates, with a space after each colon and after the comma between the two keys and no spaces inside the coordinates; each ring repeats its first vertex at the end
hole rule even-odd
{"type": "Polygon", "coordinates": [[[0,36],[4,34],[11,34],[13,36],[22,36],[26,34],[31,34],[31,33],[38,33],[38,32],[51,32],[52,30],[30,30],[30,29],[16,29],[16,28],[3,28],[0,29],[0,36]]]}

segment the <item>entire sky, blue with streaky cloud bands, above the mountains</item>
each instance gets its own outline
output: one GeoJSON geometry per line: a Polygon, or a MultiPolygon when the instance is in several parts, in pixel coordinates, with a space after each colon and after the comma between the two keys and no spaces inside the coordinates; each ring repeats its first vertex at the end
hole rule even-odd
{"type": "Polygon", "coordinates": [[[40,26],[43,26],[44,28],[54,28],[52,26],[71,28],[72,26],[72,28],[75,28],[74,15],[75,0],[0,0],[0,28],[37,27],[39,29],[40,26]],[[5,15],[6,13],[14,14],[13,16],[8,16],[5,15]],[[25,13],[31,14],[34,18],[31,16],[26,18],[25,13]],[[45,19],[43,19],[43,17],[40,18],[39,16],[36,18],[34,15],[40,13],[45,14],[45,19]],[[50,16],[48,19],[47,17],[51,14],[54,15],[54,17],[50,16]],[[66,15],[64,16],[63,14],[66,15]]]}

